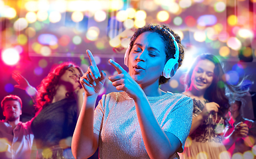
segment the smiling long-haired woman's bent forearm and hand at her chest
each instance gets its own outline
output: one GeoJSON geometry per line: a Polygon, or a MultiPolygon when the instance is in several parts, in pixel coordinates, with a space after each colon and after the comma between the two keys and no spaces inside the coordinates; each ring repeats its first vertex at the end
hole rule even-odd
{"type": "Polygon", "coordinates": [[[214,102],[206,103],[202,112],[197,117],[192,119],[192,125],[189,134],[192,134],[194,131],[196,131],[196,129],[203,123],[203,121],[208,119],[212,111],[217,113],[219,107],[220,106],[214,102]]]}

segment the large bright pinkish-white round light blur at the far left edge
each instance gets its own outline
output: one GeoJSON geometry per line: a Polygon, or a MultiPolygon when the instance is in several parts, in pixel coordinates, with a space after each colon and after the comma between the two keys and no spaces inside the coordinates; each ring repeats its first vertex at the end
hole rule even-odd
{"type": "Polygon", "coordinates": [[[5,64],[12,66],[19,62],[20,56],[15,48],[7,48],[6,50],[3,50],[1,58],[5,64]]]}

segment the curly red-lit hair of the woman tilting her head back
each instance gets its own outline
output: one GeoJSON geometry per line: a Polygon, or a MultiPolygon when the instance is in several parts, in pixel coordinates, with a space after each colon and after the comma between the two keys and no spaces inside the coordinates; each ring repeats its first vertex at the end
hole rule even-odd
{"type": "MultiPolygon", "coordinates": [[[[40,85],[38,86],[38,93],[36,96],[36,108],[40,109],[50,103],[56,94],[56,85],[60,80],[60,77],[68,70],[68,68],[74,67],[80,72],[80,76],[83,76],[84,72],[71,62],[65,62],[58,65],[54,70],[52,70],[46,78],[42,79],[40,85]]],[[[69,99],[74,99],[73,92],[66,93],[66,97],[69,99]]]]}

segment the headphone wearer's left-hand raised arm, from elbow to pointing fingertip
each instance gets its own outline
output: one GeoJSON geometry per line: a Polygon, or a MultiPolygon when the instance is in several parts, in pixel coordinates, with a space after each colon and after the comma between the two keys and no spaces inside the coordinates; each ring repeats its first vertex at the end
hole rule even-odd
{"type": "Polygon", "coordinates": [[[87,50],[92,66],[80,78],[84,88],[84,102],[72,138],[72,154],[75,158],[89,158],[96,152],[99,136],[94,134],[94,108],[97,95],[105,83],[105,73],[96,66],[94,56],[87,50]]]}

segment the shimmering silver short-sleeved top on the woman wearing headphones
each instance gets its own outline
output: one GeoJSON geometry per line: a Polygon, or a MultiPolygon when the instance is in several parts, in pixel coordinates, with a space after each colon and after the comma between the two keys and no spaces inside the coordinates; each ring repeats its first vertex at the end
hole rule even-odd
{"type": "MultiPolygon", "coordinates": [[[[174,134],[182,152],[192,124],[193,101],[180,93],[147,97],[163,131],[174,134]]],[[[149,158],[135,102],[125,92],[103,95],[94,111],[94,133],[99,134],[99,158],[149,158]]],[[[175,153],[171,158],[178,158],[175,153]]]]}

